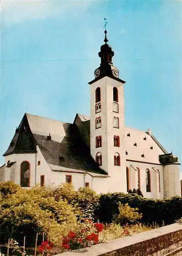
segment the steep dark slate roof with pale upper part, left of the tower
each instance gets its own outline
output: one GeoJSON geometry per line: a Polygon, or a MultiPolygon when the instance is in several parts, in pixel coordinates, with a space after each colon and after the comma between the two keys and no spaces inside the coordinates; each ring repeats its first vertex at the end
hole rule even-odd
{"type": "Polygon", "coordinates": [[[28,153],[30,147],[34,146],[34,143],[30,143],[33,141],[53,170],[89,171],[97,175],[106,175],[90,155],[90,149],[82,140],[75,124],[26,113],[12,141],[14,146],[9,146],[4,156],[12,153],[28,153]],[[49,134],[51,139],[48,138],[49,134]],[[20,141],[21,138],[23,141],[20,141]],[[22,144],[29,144],[29,146],[17,152],[16,148],[22,144]]]}

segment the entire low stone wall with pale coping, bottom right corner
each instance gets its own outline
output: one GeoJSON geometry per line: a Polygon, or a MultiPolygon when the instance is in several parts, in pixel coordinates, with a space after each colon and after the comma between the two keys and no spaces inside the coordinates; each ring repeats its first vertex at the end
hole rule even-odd
{"type": "Polygon", "coordinates": [[[180,256],[182,225],[172,224],[57,256],[180,256]]]}

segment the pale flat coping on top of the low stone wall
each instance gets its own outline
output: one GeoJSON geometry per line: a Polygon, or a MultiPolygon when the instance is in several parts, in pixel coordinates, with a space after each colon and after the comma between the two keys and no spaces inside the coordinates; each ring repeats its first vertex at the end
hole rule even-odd
{"type": "MultiPolygon", "coordinates": [[[[152,238],[160,237],[168,233],[173,233],[175,231],[181,230],[182,225],[175,223],[168,226],[152,229],[149,231],[141,232],[138,234],[133,234],[129,237],[124,237],[116,240],[109,241],[108,243],[101,243],[91,247],[78,249],[74,251],[66,251],[56,256],[99,256],[104,255],[104,253],[111,252],[113,250],[118,250],[120,248],[130,246],[136,243],[140,243],[152,238]]],[[[182,240],[182,239],[181,239],[182,240]]]]}

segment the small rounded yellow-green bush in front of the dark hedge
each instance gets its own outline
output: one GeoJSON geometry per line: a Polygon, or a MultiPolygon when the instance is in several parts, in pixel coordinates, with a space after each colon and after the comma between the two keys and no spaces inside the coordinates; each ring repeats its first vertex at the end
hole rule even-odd
{"type": "Polygon", "coordinates": [[[115,216],[114,221],[116,223],[120,223],[121,225],[135,224],[142,218],[142,214],[137,212],[138,208],[132,208],[126,203],[125,205],[118,203],[119,215],[115,216]]]}

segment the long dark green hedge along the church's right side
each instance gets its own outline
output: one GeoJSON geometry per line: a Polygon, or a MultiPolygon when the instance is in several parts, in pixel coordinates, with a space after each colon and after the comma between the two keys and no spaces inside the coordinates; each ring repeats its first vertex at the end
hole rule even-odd
{"type": "Polygon", "coordinates": [[[99,198],[99,208],[96,212],[103,223],[111,223],[115,215],[119,214],[118,203],[139,208],[142,215],[141,222],[151,225],[156,222],[162,226],[172,224],[182,217],[182,198],[179,196],[164,199],[143,198],[137,194],[108,193],[99,198]]]}

